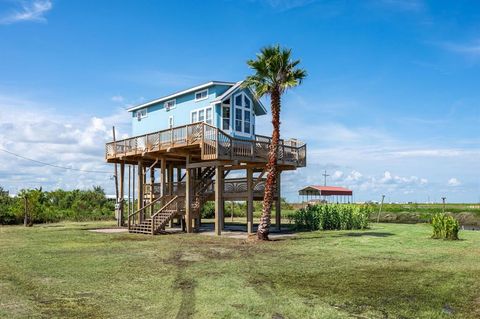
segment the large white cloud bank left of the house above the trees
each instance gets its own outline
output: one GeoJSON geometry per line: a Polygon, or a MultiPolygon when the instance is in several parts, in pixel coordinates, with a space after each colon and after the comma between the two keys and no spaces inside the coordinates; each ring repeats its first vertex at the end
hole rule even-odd
{"type": "MultiPolygon", "coordinates": [[[[110,116],[62,116],[34,101],[0,94],[0,148],[38,161],[90,171],[112,172],[105,163],[105,143],[130,130],[125,110],[110,116]]],[[[113,192],[110,173],[62,170],[17,158],[0,151],[0,186],[12,193],[21,188],[88,188],[101,185],[113,192]]]]}

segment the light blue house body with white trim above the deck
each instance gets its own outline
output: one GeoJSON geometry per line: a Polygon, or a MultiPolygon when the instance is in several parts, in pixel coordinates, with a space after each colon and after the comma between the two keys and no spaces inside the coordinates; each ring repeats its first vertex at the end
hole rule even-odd
{"type": "Polygon", "coordinates": [[[255,137],[255,117],[265,106],[242,82],[207,82],[128,109],[132,134],[205,122],[242,139],[255,137]]]}

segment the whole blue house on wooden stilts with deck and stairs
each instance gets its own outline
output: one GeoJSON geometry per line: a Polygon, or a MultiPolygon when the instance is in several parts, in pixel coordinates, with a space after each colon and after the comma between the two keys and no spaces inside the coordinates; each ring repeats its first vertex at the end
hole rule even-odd
{"type": "MultiPolygon", "coordinates": [[[[215,232],[221,234],[226,200],[247,202],[247,231],[253,231],[253,201],[263,199],[270,138],[256,134],[256,117],[267,109],[249,88],[211,81],[128,111],[133,137],[107,143],[105,156],[120,166],[118,198],[125,195],[125,167],[136,175],[128,178],[136,207],[119,202],[130,232],[156,234],[173,221],[193,232],[202,205],[215,201],[215,232]]],[[[306,145],[281,140],[278,156],[279,227],[280,174],[306,165],[306,145]]]]}

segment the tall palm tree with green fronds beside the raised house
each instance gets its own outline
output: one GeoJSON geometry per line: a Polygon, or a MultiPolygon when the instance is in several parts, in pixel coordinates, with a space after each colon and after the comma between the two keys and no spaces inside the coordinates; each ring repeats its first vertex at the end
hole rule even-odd
{"type": "Polygon", "coordinates": [[[242,83],[243,87],[253,88],[258,98],[269,96],[272,111],[272,142],[268,152],[268,174],[265,183],[262,217],[257,231],[259,240],[268,240],[270,231],[273,191],[277,179],[281,97],[287,89],[301,84],[307,76],[304,69],[298,68],[300,60],[292,60],[291,53],[291,49],[281,48],[279,45],[261,49],[255,60],[247,61],[254,74],[248,76],[242,83]]]}

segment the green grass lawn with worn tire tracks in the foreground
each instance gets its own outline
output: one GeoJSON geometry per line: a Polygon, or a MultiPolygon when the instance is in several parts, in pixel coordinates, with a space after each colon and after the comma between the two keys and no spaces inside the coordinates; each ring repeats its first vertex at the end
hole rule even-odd
{"type": "MultiPolygon", "coordinates": [[[[0,227],[2,318],[479,318],[480,232],[428,225],[251,243],[0,227]]],[[[112,225],[112,223],[110,223],[112,225]]]]}

